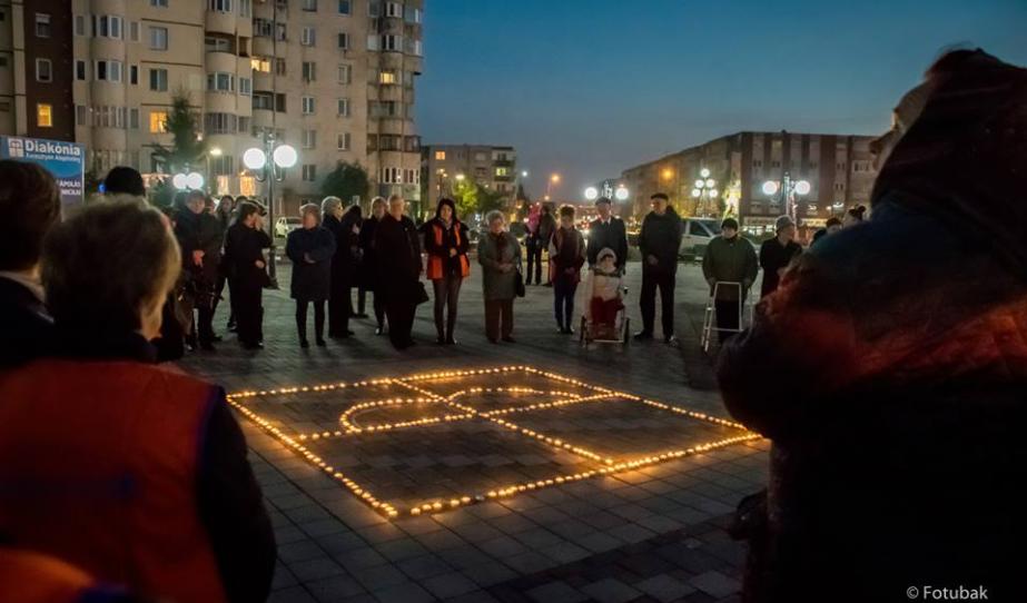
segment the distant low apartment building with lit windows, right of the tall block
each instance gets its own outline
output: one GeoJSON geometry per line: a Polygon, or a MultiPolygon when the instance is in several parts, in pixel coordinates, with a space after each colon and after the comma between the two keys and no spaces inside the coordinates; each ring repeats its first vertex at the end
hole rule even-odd
{"type": "MultiPolygon", "coordinates": [[[[517,152],[513,147],[491,145],[427,145],[421,149],[425,206],[450,195],[461,180],[502,192],[510,200],[517,190],[517,152]]],[[[434,210],[434,209],[432,209],[434,210]]]]}

